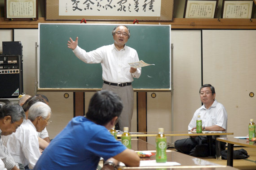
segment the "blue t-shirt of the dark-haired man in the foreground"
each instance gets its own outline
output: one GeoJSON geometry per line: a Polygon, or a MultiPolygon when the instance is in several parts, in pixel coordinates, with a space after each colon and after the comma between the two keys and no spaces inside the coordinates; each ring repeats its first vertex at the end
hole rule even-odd
{"type": "Polygon", "coordinates": [[[34,170],[96,170],[100,157],[107,160],[125,149],[106,127],[78,116],[51,141],[34,170]]]}

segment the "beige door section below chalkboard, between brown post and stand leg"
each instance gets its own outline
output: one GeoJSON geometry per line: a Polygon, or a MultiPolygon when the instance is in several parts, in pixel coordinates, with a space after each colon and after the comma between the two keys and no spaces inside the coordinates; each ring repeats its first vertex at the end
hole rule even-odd
{"type": "MultiPolygon", "coordinates": [[[[152,98],[151,93],[147,93],[147,131],[158,132],[159,127],[163,127],[165,132],[171,129],[171,92],[154,92],[156,97],[152,98]]],[[[148,137],[147,141],[155,144],[155,137],[148,137]]],[[[171,138],[167,137],[171,143],[171,138]]]]}

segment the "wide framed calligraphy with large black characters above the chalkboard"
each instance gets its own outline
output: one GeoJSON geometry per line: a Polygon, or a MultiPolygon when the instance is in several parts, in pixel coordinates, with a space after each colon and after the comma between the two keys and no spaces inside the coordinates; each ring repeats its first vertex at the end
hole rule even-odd
{"type": "Polygon", "coordinates": [[[46,0],[46,20],[172,21],[174,0],[46,0]]]}

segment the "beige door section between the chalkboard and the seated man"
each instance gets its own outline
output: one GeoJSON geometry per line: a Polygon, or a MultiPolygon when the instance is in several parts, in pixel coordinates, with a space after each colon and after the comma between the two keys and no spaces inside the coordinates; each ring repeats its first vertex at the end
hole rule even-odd
{"type": "MultiPolygon", "coordinates": [[[[172,30],[172,43],[173,131],[187,131],[194,111],[201,106],[201,32],[172,30]]],[[[174,137],[173,141],[182,138],[184,137],[174,137]]]]}

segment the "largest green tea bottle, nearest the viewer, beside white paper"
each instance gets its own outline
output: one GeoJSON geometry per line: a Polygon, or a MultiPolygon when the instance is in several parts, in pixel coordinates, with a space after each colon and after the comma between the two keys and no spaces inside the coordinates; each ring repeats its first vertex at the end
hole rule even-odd
{"type": "Polygon", "coordinates": [[[166,142],[166,137],[163,134],[163,128],[158,128],[158,135],[155,138],[155,144],[156,144],[156,155],[155,155],[156,162],[166,162],[167,161],[167,156],[166,156],[167,142],[166,142]]]}

